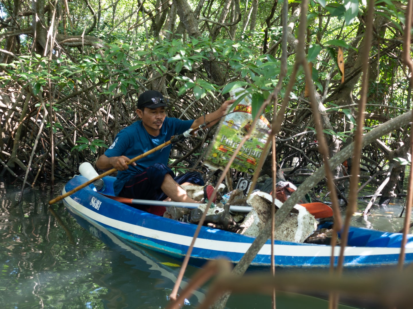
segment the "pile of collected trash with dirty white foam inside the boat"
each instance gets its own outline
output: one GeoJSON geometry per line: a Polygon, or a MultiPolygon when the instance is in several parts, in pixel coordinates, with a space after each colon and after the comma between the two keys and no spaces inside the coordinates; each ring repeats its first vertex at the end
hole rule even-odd
{"type": "MultiPolygon", "coordinates": [[[[212,204],[208,210],[204,225],[223,229],[238,234],[258,236],[267,222],[271,220],[271,191],[272,179],[266,183],[259,183],[247,199],[250,182],[244,182],[243,178],[238,181],[235,190],[223,194],[224,185],[218,190],[217,204],[212,204]],[[241,184],[241,186],[240,186],[241,184]],[[265,192],[265,191],[267,192],[265,192]],[[248,213],[230,211],[232,206],[250,206],[252,210],[248,213]]],[[[188,196],[196,201],[203,198],[203,186],[183,186],[188,196]]],[[[288,181],[276,183],[275,211],[282,203],[290,197],[297,187],[288,181]]],[[[198,208],[188,209],[175,206],[167,207],[165,218],[171,218],[182,222],[198,224],[206,209],[207,204],[200,204],[198,208]]],[[[316,219],[304,206],[296,205],[290,214],[283,220],[279,227],[275,228],[276,240],[293,241],[297,243],[330,244],[332,233],[332,217],[316,219]]]]}

